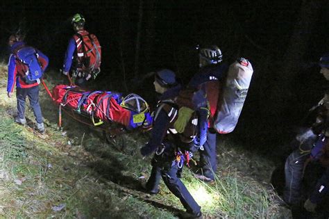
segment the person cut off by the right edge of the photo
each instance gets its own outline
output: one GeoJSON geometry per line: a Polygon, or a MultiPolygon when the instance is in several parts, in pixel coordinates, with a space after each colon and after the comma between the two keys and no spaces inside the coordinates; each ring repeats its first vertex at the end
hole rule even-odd
{"type": "MultiPolygon", "coordinates": [[[[319,65],[321,74],[329,81],[329,54],[321,57],[319,65]]],[[[317,161],[326,170],[317,185],[312,188],[310,197],[304,202],[303,207],[310,212],[316,210],[317,205],[329,192],[329,129],[328,129],[328,92],[317,106],[317,118],[310,129],[296,136],[298,149],[290,154],[285,163],[285,189],[283,199],[292,206],[294,218],[301,217],[301,187],[305,163],[317,161]]]]}

